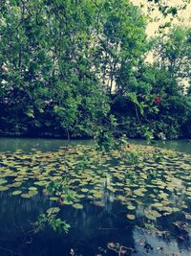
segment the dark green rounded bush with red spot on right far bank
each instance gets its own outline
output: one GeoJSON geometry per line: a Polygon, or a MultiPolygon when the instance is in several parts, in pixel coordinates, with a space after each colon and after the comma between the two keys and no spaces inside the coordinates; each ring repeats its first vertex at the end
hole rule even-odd
{"type": "Polygon", "coordinates": [[[182,92],[177,73],[156,63],[143,64],[135,79],[137,85],[129,87],[126,95],[117,96],[112,106],[118,129],[148,142],[189,137],[190,100],[182,92]]]}

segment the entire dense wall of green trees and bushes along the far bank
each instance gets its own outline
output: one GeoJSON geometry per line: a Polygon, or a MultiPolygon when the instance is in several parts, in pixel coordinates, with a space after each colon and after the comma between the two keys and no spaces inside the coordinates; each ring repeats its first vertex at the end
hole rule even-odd
{"type": "Polygon", "coordinates": [[[151,40],[127,0],[4,0],[0,12],[2,135],[191,137],[189,28],[151,40]]]}

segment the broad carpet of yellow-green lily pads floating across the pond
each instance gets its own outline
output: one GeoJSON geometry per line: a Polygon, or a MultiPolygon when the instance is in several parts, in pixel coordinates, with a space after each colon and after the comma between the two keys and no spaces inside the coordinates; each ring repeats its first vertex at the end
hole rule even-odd
{"type": "Polygon", "coordinates": [[[129,221],[158,221],[177,213],[188,221],[190,161],[185,153],[129,144],[108,152],[85,145],[29,154],[3,152],[0,192],[25,200],[42,192],[55,208],[39,223],[53,224],[53,229],[60,223],[64,230],[67,224],[55,210],[71,205],[82,211],[87,202],[105,207],[108,200],[124,206],[129,221]]]}

